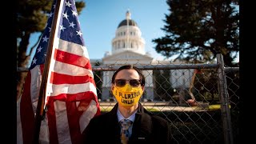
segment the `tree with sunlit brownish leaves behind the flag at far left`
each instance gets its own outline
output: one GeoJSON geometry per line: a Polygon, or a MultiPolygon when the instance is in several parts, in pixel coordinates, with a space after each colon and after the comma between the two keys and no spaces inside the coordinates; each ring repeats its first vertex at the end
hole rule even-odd
{"type": "MultiPolygon", "coordinates": [[[[19,0],[16,11],[16,34],[17,34],[17,66],[26,67],[30,60],[30,54],[38,42],[29,49],[30,34],[39,32],[42,34],[46,22],[47,15],[50,14],[53,1],[46,0],[19,0]],[[30,54],[26,55],[26,51],[30,50],[30,54]]],[[[78,14],[81,13],[85,2],[76,2],[78,14]]],[[[17,98],[22,94],[22,86],[25,82],[26,73],[17,73],[17,98]]]]}

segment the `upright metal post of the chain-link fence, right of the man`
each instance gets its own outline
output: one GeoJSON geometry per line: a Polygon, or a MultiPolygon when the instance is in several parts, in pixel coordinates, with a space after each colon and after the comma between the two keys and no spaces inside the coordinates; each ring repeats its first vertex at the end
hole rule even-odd
{"type": "Polygon", "coordinates": [[[222,112],[222,126],[224,133],[225,144],[233,144],[233,134],[230,117],[230,102],[229,94],[226,86],[226,78],[224,71],[224,60],[222,54],[217,54],[218,63],[218,91],[220,94],[221,112],[222,112]]]}

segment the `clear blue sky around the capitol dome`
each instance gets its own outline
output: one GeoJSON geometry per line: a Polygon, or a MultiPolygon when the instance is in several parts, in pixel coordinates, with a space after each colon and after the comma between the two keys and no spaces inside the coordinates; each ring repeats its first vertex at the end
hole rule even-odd
{"type": "MultiPolygon", "coordinates": [[[[144,38],[145,51],[155,59],[164,57],[154,50],[154,38],[165,35],[161,28],[165,14],[169,14],[166,0],[84,0],[86,7],[78,15],[82,35],[90,59],[101,59],[106,51],[112,49],[111,41],[122,20],[126,19],[126,11],[130,10],[130,18],[137,22],[144,38]]],[[[30,38],[30,47],[34,45],[39,34],[30,38]]],[[[35,51],[35,50],[33,50],[35,51]]],[[[34,57],[34,52],[32,54],[34,57]]],[[[31,59],[32,59],[31,58],[31,59]]]]}

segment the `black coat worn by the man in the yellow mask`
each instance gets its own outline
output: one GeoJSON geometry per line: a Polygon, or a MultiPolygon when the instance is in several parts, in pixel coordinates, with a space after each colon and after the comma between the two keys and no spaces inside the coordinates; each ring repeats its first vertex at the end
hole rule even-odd
{"type": "MultiPolygon", "coordinates": [[[[118,104],[110,112],[92,118],[86,130],[83,131],[83,143],[120,143],[120,126],[118,124],[117,110],[118,104]]],[[[139,103],[129,143],[163,144],[170,143],[170,138],[168,122],[159,116],[150,114],[139,103]]]]}

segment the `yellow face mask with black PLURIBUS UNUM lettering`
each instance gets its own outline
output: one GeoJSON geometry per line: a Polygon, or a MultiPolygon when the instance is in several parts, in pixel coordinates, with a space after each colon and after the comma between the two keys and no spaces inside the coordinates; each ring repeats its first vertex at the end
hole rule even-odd
{"type": "Polygon", "coordinates": [[[114,86],[112,93],[120,105],[130,107],[138,102],[143,94],[143,90],[142,86],[132,87],[130,84],[126,84],[123,87],[114,86]]]}

